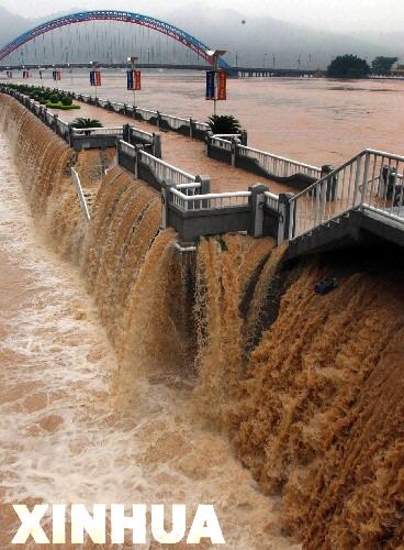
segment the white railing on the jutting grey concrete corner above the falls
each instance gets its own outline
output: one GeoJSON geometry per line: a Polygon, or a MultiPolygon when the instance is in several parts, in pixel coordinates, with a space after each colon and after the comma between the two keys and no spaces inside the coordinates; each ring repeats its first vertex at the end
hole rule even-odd
{"type": "Polygon", "coordinates": [[[250,191],[209,193],[206,195],[184,195],[181,190],[170,187],[171,204],[181,210],[216,210],[223,208],[247,207],[250,191]]]}

